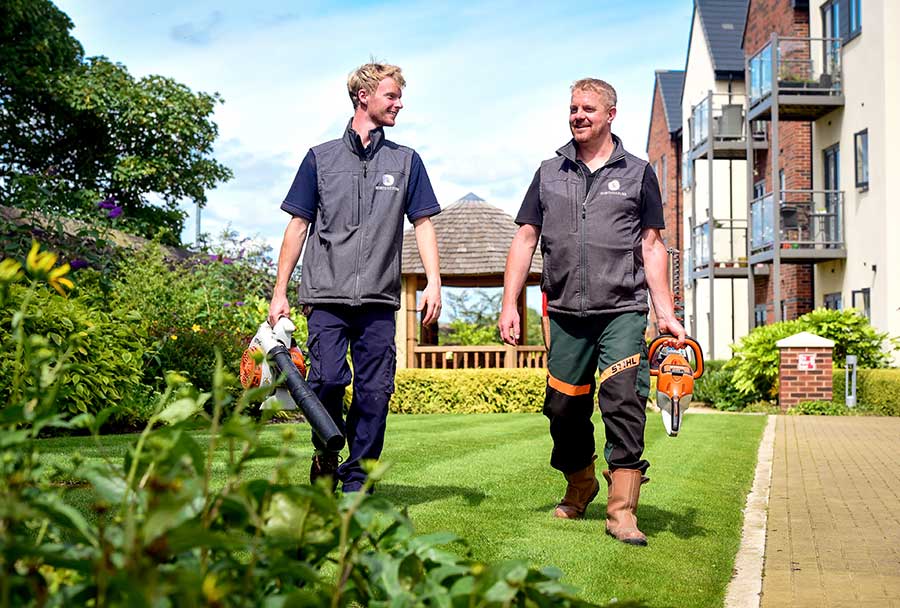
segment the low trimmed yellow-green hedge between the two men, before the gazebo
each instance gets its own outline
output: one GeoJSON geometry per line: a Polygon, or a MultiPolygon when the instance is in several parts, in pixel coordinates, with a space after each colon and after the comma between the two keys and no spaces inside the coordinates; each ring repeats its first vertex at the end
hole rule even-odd
{"type": "Polygon", "coordinates": [[[486,414],[540,412],[543,369],[401,369],[394,380],[391,412],[486,414]]]}

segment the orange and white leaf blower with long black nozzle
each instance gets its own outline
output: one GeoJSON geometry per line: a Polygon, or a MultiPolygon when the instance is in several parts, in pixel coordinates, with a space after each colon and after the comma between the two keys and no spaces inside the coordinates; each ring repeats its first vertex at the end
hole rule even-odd
{"type": "Polygon", "coordinates": [[[263,401],[261,409],[295,410],[299,406],[325,448],[339,452],[344,447],[344,436],[303,379],[306,363],[300,349],[293,344],[295,329],[287,317],[278,319],[275,327],[267,321],[259,326],[241,356],[241,384],[244,388],[268,386],[283,377],[284,382],[275,389],[275,394],[263,401]],[[258,353],[263,355],[261,362],[257,362],[258,353]]]}

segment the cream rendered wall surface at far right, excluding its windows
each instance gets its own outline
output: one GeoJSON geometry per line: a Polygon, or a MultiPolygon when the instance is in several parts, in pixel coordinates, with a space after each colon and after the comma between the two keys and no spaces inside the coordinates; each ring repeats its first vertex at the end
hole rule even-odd
{"type": "MultiPolygon", "coordinates": [[[[810,32],[822,36],[820,6],[810,8],[810,32]]],[[[872,323],[900,335],[900,3],[862,1],[862,32],[842,52],[845,105],[813,125],[813,183],[824,187],[823,150],[840,145],[840,185],[844,192],[846,261],[818,264],[815,304],[840,292],[869,288],[872,323]],[[857,189],[854,135],[868,129],[869,187],[857,189]]],[[[894,355],[900,363],[900,353],[894,355]]]]}

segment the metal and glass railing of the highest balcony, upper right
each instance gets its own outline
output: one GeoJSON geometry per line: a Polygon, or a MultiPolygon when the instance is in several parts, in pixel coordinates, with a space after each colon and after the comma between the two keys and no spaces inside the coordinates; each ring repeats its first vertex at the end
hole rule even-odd
{"type": "Polygon", "coordinates": [[[751,106],[771,95],[775,78],[778,89],[786,94],[841,93],[840,38],[776,36],[747,65],[751,106]]]}

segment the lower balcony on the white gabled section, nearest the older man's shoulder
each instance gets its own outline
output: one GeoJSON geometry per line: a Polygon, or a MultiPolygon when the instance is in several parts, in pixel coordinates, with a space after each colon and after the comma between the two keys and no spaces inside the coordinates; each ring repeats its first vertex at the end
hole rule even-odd
{"type": "Polygon", "coordinates": [[[714,276],[747,277],[747,220],[716,219],[715,228],[707,220],[694,226],[690,266],[694,278],[709,276],[710,244],[714,276]]]}

